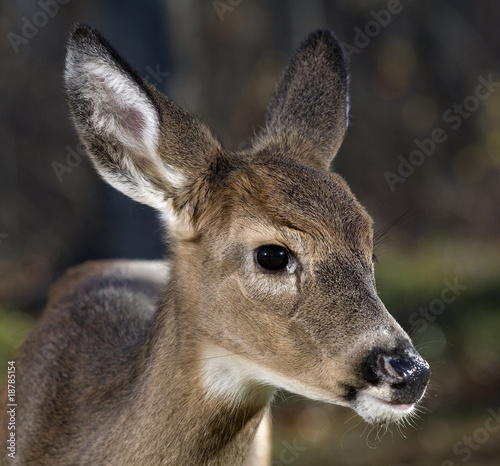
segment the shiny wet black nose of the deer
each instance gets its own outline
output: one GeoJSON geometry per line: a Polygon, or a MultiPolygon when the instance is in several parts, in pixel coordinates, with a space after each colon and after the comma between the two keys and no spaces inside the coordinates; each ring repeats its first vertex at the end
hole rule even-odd
{"type": "Polygon", "coordinates": [[[396,349],[371,351],[363,364],[363,376],[372,385],[388,384],[392,402],[411,404],[424,393],[431,370],[429,364],[414,351],[396,349]]]}

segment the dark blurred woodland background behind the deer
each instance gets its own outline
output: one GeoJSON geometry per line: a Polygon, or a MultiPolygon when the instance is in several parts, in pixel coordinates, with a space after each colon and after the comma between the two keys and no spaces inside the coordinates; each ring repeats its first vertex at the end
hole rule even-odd
{"type": "Polygon", "coordinates": [[[282,393],[273,465],[500,464],[500,5],[467,0],[3,0],[0,376],[68,266],[157,258],[154,213],[89,166],[62,89],[73,23],[101,30],[229,148],[263,122],[311,30],[351,71],[334,161],[376,222],[379,292],[431,363],[419,419],[389,432],[282,393]]]}

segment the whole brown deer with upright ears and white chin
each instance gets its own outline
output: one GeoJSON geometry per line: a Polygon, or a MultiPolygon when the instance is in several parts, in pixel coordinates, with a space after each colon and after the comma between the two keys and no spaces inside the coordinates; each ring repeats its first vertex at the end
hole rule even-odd
{"type": "Polygon", "coordinates": [[[228,150],[74,27],[76,131],[105,181],[158,211],[169,251],[87,262],[53,285],[15,360],[2,464],[267,465],[277,390],[372,424],[414,414],[429,365],[378,296],[373,220],[330,171],[347,68],[335,35],[312,32],[262,128],[228,150]]]}

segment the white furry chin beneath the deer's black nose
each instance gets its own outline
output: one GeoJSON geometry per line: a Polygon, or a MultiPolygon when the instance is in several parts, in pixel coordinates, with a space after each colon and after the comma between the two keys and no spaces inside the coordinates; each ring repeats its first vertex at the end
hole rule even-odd
{"type": "Polygon", "coordinates": [[[393,404],[369,393],[369,391],[364,390],[359,392],[356,401],[353,402],[353,408],[370,424],[397,422],[415,410],[415,403],[393,404]]]}

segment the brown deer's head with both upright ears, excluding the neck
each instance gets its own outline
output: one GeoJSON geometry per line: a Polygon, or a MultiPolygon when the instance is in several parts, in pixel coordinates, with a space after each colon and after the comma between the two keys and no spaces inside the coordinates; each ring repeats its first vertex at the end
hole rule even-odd
{"type": "Polygon", "coordinates": [[[196,353],[204,393],[259,403],[285,388],[369,422],[414,410],[429,367],[377,294],[370,216],[329,171],[348,121],[332,33],[300,45],[236,152],[89,27],[71,36],[65,78],[97,171],[165,222],[168,338],[196,353]]]}

